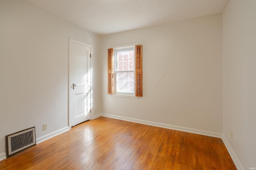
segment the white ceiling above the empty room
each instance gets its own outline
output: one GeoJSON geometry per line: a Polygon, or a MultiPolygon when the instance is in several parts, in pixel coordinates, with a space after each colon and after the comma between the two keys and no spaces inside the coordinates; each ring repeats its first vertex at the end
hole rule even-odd
{"type": "Polygon", "coordinates": [[[25,0],[98,35],[217,14],[228,0],[25,0]]]}

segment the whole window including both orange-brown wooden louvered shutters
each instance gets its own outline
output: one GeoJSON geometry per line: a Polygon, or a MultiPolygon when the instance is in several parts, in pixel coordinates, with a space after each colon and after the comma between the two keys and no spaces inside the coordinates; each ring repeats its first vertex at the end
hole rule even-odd
{"type": "Polygon", "coordinates": [[[108,49],[108,94],[142,96],[142,45],[108,49]]]}

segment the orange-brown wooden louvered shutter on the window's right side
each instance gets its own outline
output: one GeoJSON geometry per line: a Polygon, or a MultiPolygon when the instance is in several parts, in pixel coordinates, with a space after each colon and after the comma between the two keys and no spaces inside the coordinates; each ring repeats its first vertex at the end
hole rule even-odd
{"type": "Polygon", "coordinates": [[[142,45],[135,46],[135,96],[142,96],[142,45]]]}

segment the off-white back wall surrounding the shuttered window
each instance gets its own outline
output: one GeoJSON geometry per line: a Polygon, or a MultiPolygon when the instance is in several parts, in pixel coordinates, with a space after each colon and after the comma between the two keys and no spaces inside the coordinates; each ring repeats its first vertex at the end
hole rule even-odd
{"type": "Polygon", "coordinates": [[[102,36],[103,113],[222,134],[222,14],[102,36]],[[107,49],[143,45],[143,97],[107,94],[107,49]]]}

